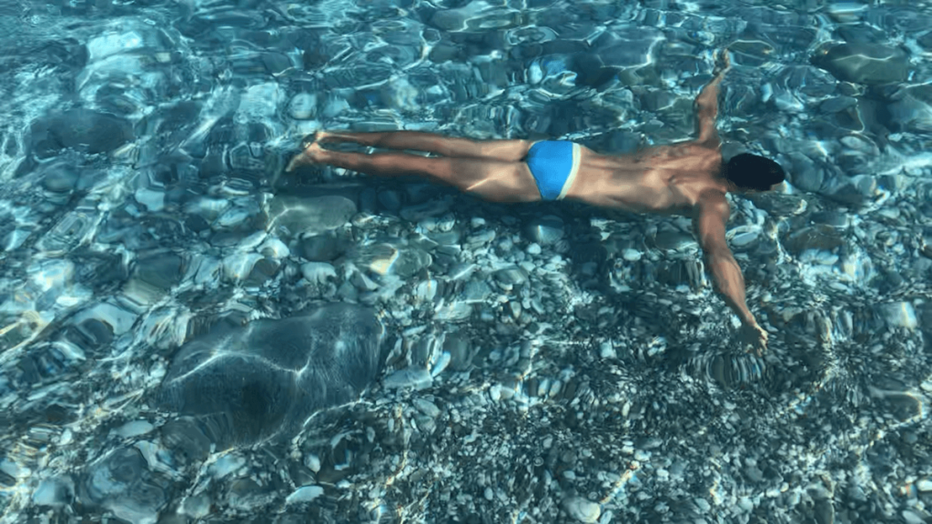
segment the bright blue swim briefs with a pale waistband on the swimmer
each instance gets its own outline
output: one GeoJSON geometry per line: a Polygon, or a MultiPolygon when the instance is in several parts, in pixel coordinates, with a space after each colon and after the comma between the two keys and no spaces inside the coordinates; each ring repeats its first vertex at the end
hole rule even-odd
{"type": "Polygon", "coordinates": [[[561,200],[580,170],[580,145],[567,140],[535,142],[528,150],[528,168],[543,200],[561,200]]]}

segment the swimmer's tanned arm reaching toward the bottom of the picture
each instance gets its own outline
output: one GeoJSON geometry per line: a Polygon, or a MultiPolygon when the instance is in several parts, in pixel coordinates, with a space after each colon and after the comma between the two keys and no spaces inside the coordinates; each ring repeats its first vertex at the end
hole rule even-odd
{"type": "Polygon", "coordinates": [[[754,315],[747,309],[745,278],[725,241],[725,224],[729,214],[728,200],[725,200],[724,195],[709,197],[699,205],[692,220],[716,289],[728,307],[741,319],[745,335],[753,336],[755,350],[761,354],[767,347],[767,332],[761,329],[754,315]]]}

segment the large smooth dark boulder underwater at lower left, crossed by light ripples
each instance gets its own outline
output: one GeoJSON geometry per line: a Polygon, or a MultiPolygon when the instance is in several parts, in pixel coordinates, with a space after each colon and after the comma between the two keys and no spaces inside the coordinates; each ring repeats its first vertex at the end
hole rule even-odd
{"type": "Polygon", "coordinates": [[[373,310],[350,304],[219,327],[179,350],[157,404],[218,448],[288,438],[376,379],[383,334],[373,310]]]}

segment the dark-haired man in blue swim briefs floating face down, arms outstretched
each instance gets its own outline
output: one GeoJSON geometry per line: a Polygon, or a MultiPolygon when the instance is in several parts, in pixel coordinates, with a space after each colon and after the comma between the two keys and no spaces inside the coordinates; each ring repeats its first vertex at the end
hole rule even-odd
{"type": "Polygon", "coordinates": [[[722,161],[715,120],[719,85],[730,65],[728,52],[720,52],[720,66],[695,100],[698,137],[687,142],[611,156],[568,141],[473,141],[418,131],[318,131],[287,171],[302,164],[329,164],[377,175],[421,174],[494,202],[569,199],[631,212],[692,216],[716,288],[740,318],[742,338],[761,354],[767,332],[747,309],[744,277],[725,241],[731,212],[725,194],[772,189],[783,182],[784,172],[774,160],[747,153],[727,164],[722,161]],[[442,158],[331,151],[321,147],[327,142],[428,151],[442,158]]]}

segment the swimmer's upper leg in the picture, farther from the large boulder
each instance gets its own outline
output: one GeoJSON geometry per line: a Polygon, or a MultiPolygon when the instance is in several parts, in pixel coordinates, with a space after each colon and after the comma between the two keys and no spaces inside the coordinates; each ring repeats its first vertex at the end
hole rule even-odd
{"type": "Polygon", "coordinates": [[[317,142],[354,142],[384,149],[428,151],[457,159],[520,162],[528,156],[529,140],[471,140],[420,131],[318,131],[317,142]]]}

